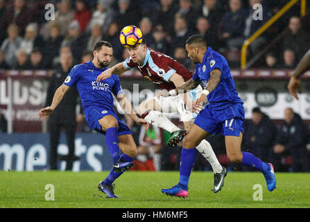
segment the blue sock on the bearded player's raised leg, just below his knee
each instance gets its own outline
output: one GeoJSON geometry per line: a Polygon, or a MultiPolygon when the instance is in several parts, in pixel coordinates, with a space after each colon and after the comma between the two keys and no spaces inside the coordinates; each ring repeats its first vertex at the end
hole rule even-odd
{"type": "Polygon", "coordinates": [[[119,139],[117,138],[117,128],[108,128],[105,132],[105,143],[112,155],[113,162],[116,163],[119,160],[119,139]]]}

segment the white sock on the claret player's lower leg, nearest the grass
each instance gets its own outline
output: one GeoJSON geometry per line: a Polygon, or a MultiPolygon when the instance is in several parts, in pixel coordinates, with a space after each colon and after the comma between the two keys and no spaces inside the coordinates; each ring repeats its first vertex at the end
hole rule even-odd
{"type": "Polygon", "coordinates": [[[212,146],[209,144],[209,142],[207,142],[207,140],[203,139],[203,141],[201,141],[200,144],[196,146],[196,149],[211,164],[214,173],[221,173],[223,167],[221,166],[220,162],[218,162],[212,146]]]}

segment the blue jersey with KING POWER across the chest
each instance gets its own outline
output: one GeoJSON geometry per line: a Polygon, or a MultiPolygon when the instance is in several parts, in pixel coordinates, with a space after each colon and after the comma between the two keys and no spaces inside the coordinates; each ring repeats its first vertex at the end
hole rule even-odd
{"type": "Polygon", "coordinates": [[[69,87],[76,85],[85,111],[94,106],[113,110],[112,94],[115,96],[123,94],[117,75],[112,75],[111,78],[96,82],[97,76],[106,69],[97,68],[92,61],[89,61],[74,66],[66,80],[64,80],[64,85],[69,87]]]}

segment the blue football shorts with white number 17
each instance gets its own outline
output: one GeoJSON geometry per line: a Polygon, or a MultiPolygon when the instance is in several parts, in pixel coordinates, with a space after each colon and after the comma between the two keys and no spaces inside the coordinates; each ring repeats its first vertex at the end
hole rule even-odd
{"type": "Polygon", "coordinates": [[[212,110],[206,105],[193,123],[212,135],[221,133],[223,136],[239,137],[240,132],[244,133],[243,104],[236,103],[223,110],[212,110]]]}

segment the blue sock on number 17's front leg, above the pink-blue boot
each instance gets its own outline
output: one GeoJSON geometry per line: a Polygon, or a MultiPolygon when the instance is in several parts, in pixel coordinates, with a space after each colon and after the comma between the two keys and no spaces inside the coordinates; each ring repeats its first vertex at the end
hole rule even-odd
{"type": "Polygon", "coordinates": [[[183,189],[187,189],[189,185],[189,176],[195,162],[196,148],[182,148],[180,160],[180,181],[179,184],[183,189]]]}

